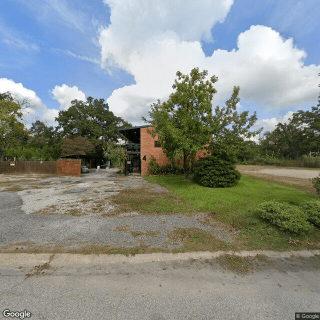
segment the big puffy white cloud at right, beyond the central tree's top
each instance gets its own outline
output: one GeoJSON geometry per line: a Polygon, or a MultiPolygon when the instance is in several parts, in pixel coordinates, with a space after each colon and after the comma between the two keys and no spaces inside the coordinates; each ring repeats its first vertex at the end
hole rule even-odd
{"type": "Polygon", "coordinates": [[[292,38],[283,39],[270,27],[253,25],[239,34],[237,46],[208,57],[210,67],[220,70],[218,89],[225,91],[231,79],[240,86],[243,99],[267,109],[314,100],[320,66],[303,65],[306,53],[294,46],[292,38]]]}

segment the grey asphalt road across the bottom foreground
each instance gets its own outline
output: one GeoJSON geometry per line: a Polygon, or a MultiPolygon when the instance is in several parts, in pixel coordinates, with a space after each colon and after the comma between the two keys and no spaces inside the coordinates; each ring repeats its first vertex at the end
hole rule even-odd
{"type": "MultiPolygon", "coordinates": [[[[248,275],[215,259],[0,267],[0,308],[31,319],[294,319],[320,312],[319,257],[274,259],[248,275]]],[[[0,318],[4,318],[1,314],[0,318]]]]}

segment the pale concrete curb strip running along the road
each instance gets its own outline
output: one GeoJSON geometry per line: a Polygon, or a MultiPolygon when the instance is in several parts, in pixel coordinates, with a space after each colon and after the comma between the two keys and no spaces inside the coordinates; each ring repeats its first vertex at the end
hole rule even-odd
{"type": "Polygon", "coordinates": [[[212,259],[223,254],[234,254],[242,257],[266,255],[271,258],[312,257],[320,255],[320,250],[300,251],[196,251],[185,253],[145,253],[135,255],[124,254],[73,254],[73,253],[0,253],[0,266],[35,266],[49,263],[53,266],[96,265],[113,263],[143,263],[154,261],[176,261],[189,259],[212,259]]]}

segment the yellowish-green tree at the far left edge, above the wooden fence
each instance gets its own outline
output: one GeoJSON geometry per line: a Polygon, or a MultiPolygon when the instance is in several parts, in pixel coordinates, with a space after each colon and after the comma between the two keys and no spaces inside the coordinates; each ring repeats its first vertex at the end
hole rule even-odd
{"type": "Polygon", "coordinates": [[[27,141],[28,132],[22,121],[21,107],[9,92],[0,93],[0,159],[6,149],[27,141]]]}

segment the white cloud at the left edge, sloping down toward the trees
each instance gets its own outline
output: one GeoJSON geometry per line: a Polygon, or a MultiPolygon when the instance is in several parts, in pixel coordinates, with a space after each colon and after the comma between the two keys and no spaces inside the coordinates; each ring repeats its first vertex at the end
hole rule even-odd
{"type": "Polygon", "coordinates": [[[36,93],[23,86],[22,83],[14,82],[12,79],[0,78],[0,92],[11,92],[13,97],[18,100],[27,100],[27,106],[23,108],[23,120],[29,127],[32,122],[37,119],[54,124],[54,117],[57,116],[58,110],[49,109],[36,95],[36,93]]]}

